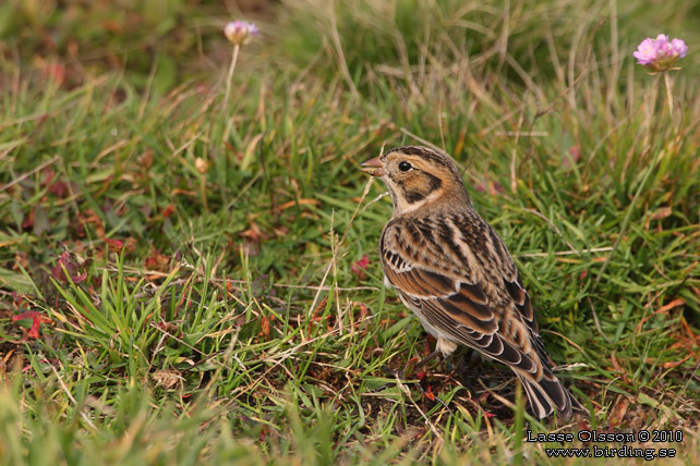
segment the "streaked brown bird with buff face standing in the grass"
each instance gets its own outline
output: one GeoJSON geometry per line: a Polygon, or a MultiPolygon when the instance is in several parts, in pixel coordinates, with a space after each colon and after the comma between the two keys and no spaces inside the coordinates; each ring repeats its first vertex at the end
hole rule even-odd
{"type": "Polygon", "coordinates": [[[379,257],[388,289],[437,343],[509,366],[531,412],[569,419],[588,412],[552,371],[530,296],[494,229],[474,210],[455,161],[423,146],[402,146],[361,170],[388,187],[394,213],[382,230],[379,257]]]}

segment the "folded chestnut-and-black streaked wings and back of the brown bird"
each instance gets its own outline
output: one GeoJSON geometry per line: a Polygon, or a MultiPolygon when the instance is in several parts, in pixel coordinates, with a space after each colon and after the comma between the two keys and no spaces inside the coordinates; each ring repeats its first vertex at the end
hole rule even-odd
{"type": "Polygon", "coordinates": [[[523,376],[551,373],[512,259],[478,214],[395,219],[384,230],[379,252],[388,281],[449,340],[523,376]]]}

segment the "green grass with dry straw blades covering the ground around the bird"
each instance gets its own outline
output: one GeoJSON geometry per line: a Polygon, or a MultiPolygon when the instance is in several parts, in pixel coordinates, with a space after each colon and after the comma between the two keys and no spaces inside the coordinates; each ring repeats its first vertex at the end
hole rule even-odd
{"type": "MultiPolygon", "coordinates": [[[[0,464],[583,463],[524,441],[553,426],[504,367],[389,370],[434,342],[383,285],[391,206],[357,165],[423,140],[588,426],[700,462],[697,8],[288,1],[225,111],[229,16],[197,3],[1,7],[0,464]],[[673,114],[631,58],[660,30],[690,45],[673,114]]],[[[593,445],[620,446],[567,444],[593,445]]]]}

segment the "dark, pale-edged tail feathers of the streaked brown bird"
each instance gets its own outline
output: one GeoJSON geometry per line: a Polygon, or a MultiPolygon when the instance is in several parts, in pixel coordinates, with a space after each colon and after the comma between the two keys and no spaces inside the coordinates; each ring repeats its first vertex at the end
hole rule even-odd
{"type": "Polygon", "coordinates": [[[540,419],[551,415],[555,408],[557,415],[564,420],[570,418],[574,413],[589,417],[588,409],[562,385],[554,375],[543,375],[539,381],[520,373],[518,378],[522,382],[532,412],[540,419]]]}

